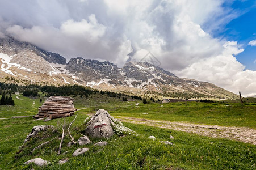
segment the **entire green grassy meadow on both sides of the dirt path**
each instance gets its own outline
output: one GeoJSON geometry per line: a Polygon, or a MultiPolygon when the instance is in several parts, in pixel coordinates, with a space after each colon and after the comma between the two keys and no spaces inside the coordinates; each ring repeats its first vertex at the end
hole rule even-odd
{"type": "MultiPolygon", "coordinates": [[[[37,113],[41,105],[40,98],[30,99],[19,96],[15,100],[15,106],[1,106],[0,117],[24,116],[37,113]],[[35,105],[33,105],[35,101],[35,105]],[[32,107],[33,106],[33,107],[32,107]],[[8,109],[8,110],[7,110],[8,109]]],[[[241,107],[240,104],[232,104],[226,107],[226,103],[170,103],[149,104],[140,102],[136,107],[136,101],[120,102],[120,99],[107,96],[94,95],[87,99],[75,97],[75,107],[78,117],[72,125],[72,134],[77,140],[83,131],[83,120],[87,113],[95,113],[99,108],[107,109],[112,116],[141,117],[169,121],[189,121],[203,124],[246,126],[255,128],[255,105],[248,103],[241,107]],[[163,105],[163,107],[160,107],[163,105]],[[82,109],[84,108],[84,109],[82,109]],[[142,113],[149,114],[142,114],[142,113]]],[[[230,103],[229,103],[230,104],[230,103]]],[[[248,143],[231,141],[228,139],[216,139],[202,137],[200,135],[184,133],[181,131],[154,128],[145,125],[125,123],[137,136],[124,135],[107,139],[109,143],[104,147],[87,145],[90,150],[86,154],[73,157],[72,153],[79,146],[67,147],[69,138],[64,139],[62,154],[57,155],[59,139],[42,147],[33,154],[29,152],[40,143],[49,141],[60,133],[51,135],[40,134],[40,138],[28,143],[28,149],[16,154],[27,134],[35,125],[54,125],[61,132],[61,125],[70,123],[74,117],[61,118],[43,122],[33,121],[31,117],[12,118],[0,120],[0,169],[256,169],[256,147],[248,143]],[[157,140],[148,139],[154,135],[157,140]],[[174,139],[169,138],[173,135],[174,139]],[[170,141],[174,145],[165,145],[161,141],[170,141]],[[64,152],[68,151],[66,154],[64,152]],[[16,157],[16,158],[15,158],[16,157]],[[40,157],[52,162],[47,167],[24,165],[29,159],[40,157]],[[64,165],[57,164],[58,160],[69,158],[64,165]]],[[[93,139],[93,143],[99,139],[93,139]]]]}

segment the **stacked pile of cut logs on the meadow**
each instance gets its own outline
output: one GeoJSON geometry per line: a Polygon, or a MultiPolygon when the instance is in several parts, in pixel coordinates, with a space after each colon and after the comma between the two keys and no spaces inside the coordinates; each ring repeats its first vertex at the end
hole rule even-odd
{"type": "Polygon", "coordinates": [[[38,114],[34,118],[60,118],[72,116],[77,110],[71,97],[51,96],[39,107],[38,114]]]}

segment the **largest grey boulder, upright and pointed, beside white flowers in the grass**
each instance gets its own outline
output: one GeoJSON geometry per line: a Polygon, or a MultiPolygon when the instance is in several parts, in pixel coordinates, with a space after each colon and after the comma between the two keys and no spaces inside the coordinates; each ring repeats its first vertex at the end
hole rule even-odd
{"type": "Polygon", "coordinates": [[[87,122],[86,134],[94,138],[109,138],[114,133],[111,124],[113,121],[110,114],[104,109],[99,109],[87,122]]]}

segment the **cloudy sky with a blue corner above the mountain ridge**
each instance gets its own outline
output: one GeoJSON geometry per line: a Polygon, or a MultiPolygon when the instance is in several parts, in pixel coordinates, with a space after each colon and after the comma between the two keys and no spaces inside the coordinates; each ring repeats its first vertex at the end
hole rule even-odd
{"type": "Polygon", "coordinates": [[[67,59],[149,61],[256,95],[256,1],[0,0],[0,37],[67,59]]]}

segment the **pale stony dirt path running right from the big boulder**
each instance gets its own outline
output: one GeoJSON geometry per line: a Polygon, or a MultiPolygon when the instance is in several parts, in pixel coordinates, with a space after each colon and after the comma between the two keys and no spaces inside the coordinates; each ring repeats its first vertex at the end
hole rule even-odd
{"type": "Polygon", "coordinates": [[[173,129],[195,133],[213,138],[227,138],[245,143],[253,143],[256,145],[256,129],[244,127],[226,127],[219,125],[202,125],[193,124],[191,122],[171,122],[162,120],[146,120],[145,118],[120,117],[116,116],[120,121],[133,124],[142,124],[155,126],[159,128],[173,129]]]}

